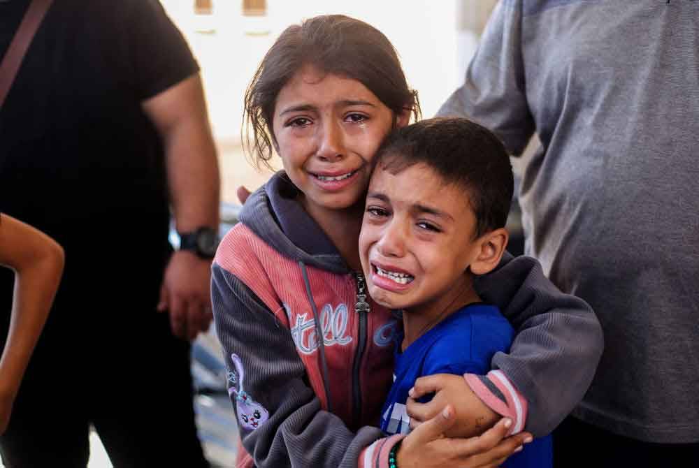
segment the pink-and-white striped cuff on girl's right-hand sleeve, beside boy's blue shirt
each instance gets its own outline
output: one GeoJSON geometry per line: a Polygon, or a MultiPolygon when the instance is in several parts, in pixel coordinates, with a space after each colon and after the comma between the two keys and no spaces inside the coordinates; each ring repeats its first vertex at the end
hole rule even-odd
{"type": "Polygon", "coordinates": [[[491,370],[488,375],[464,374],[466,383],[482,402],[500,416],[512,419],[512,428],[507,435],[524,430],[527,402],[524,395],[514,388],[503,371],[491,370]]]}

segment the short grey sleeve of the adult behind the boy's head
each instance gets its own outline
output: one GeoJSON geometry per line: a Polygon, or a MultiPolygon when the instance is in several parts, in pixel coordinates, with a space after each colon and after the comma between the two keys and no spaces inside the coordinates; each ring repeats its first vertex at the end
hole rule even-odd
{"type": "Polygon", "coordinates": [[[535,131],[521,50],[521,3],[500,1],[463,85],[447,98],[437,116],[472,119],[491,129],[511,154],[519,156],[535,131]]]}

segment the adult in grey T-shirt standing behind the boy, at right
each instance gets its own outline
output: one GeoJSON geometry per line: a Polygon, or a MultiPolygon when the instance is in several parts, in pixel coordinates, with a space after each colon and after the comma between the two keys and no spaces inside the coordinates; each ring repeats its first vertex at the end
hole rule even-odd
{"type": "Polygon", "coordinates": [[[590,303],[605,350],[556,464],[699,460],[699,1],[503,0],[440,115],[536,133],[526,253],[590,303]],[[593,449],[592,449],[593,448],[593,449]]]}

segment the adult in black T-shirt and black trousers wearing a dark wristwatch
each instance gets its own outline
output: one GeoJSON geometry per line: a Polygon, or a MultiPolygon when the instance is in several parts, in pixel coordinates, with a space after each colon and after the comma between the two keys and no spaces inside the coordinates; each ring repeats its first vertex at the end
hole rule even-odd
{"type": "MultiPolygon", "coordinates": [[[[0,56],[29,3],[0,1],[0,56]]],[[[66,268],[0,438],[8,467],[84,467],[89,424],[115,466],[207,465],[188,339],[211,319],[219,175],[198,71],[157,0],[55,1],[24,56],[0,109],[0,211],[54,237],[66,268]]],[[[3,339],[11,295],[3,275],[3,339]]]]}

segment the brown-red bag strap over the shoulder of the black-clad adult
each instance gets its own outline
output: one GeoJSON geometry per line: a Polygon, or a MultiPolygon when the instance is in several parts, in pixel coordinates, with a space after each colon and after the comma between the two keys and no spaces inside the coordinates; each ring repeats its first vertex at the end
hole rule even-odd
{"type": "Polygon", "coordinates": [[[15,37],[0,63],[0,108],[5,103],[5,98],[10,92],[10,87],[15,81],[22,59],[24,59],[24,54],[27,53],[29,44],[31,44],[36,30],[52,2],[53,0],[31,0],[27,13],[24,13],[20,27],[17,28],[15,37]]]}

